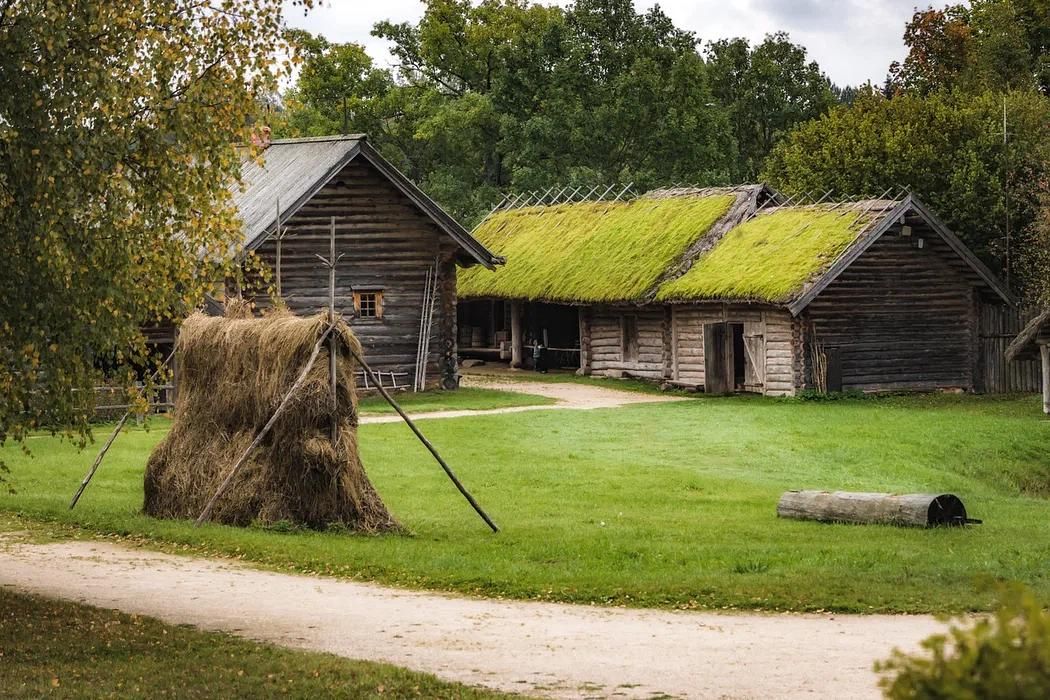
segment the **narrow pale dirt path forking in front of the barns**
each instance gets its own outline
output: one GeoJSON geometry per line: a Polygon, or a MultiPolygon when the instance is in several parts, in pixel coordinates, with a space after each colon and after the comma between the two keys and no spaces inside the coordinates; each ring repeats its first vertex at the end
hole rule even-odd
{"type": "MultiPolygon", "coordinates": [[[[578,384],[573,382],[534,382],[513,379],[492,378],[485,376],[463,377],[463,386],[472,386],[484,389],[498,389],[500,391],[517,391],[519,394],[534,394],[550,399],[555,399],[558,403],[540,406],[508,406],[505,408],[484,408],[481,410],[434,410],[422,413],[408,412],[412,420],[428,420],[436,418],[465,418],[467,416],[496,416],[500,413],[522,413],[530,410],[556,410],[575,409],[588,410],[591,408],[616,408],[635,403],[658,403],[667,401],[682,401],[681,397],[659,396],[655,394],[642,394],[639,391],[623,391],[620,389],[606,388],[604,386],[592,386],[590,384],[578,384]]],[[[397,423],[399,416],[362,416],[360,422],[369,423],[397,423]]]]}

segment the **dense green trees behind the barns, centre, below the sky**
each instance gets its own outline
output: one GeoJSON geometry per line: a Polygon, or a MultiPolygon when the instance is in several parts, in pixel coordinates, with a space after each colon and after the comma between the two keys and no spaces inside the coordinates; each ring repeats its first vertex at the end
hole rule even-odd
{"type": "MultiPolygon", "coordinates": [[[[326,90],[356,105],[350,129],[467,221],[507,190],[751,178],[781,134],[835,101],[783,35],[728,42],[739,61],[705,58],[692,33],[631,0],[428,0],[418,23],[374,34],[398,63],[375,83],[339,77],[340,55],[360,47],[303,38],[321,48],[307,51],[278,132],[340,126],[338,106],[324,106],[338,101],[317,97],[315,78],[328,77],[326,90]]],[[[374,75],[358,65],[355,76],[374,75]]]]}

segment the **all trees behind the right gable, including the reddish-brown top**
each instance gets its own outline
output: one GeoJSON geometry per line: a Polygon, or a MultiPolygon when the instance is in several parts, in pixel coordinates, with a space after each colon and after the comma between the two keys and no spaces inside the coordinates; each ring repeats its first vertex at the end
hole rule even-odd
{"type": "Polygon", "coordinates": [[[789,192],[906,187],[1015,289],[1034,290],[1036,185],[1050,173],[1048,9],[975,0],[917,10],[883,93],[801,125],[774,149],[768,178],[789,192]]]}

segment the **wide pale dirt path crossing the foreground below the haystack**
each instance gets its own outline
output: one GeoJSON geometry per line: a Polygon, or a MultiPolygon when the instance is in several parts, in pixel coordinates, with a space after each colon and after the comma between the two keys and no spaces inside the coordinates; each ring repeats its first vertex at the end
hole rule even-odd
{"type": "Polygon", "coordinates": [[[0,538],[0,586],[566,698],[877,697],[872,663],[941,628],[461,598],[91,542],[0,538]]]}

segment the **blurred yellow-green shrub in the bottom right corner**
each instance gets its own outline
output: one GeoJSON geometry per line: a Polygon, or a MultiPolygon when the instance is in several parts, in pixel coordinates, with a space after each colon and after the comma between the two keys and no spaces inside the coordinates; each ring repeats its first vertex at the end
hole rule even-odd
{"type": "Polygon", "coordinates": [[[876,671],[894,700],[1050,698],[1050,614],[1031,591],[1004,586],[995,613],[922,642],[927,654],[895,651],[876,671]]]}

